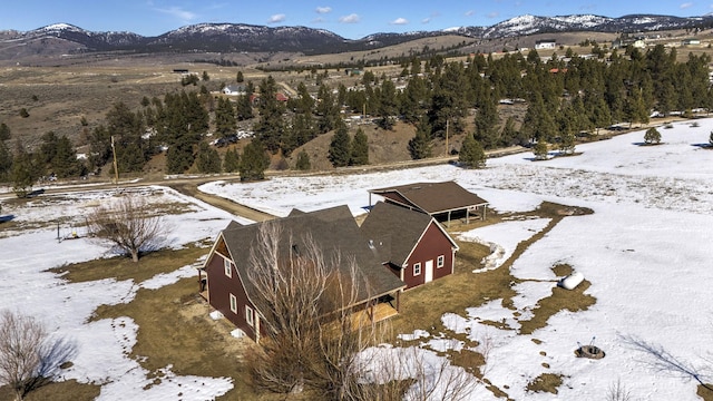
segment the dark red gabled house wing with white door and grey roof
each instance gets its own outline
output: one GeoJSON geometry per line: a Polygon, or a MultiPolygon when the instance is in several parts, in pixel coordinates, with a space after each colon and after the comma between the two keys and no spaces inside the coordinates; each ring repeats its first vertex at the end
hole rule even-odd
{"type": "Polygon", "coordinates": [[[361,225],[381,262],[407,288],[453,273],[458,245],[430,215],[377,203],[361,225]]]}

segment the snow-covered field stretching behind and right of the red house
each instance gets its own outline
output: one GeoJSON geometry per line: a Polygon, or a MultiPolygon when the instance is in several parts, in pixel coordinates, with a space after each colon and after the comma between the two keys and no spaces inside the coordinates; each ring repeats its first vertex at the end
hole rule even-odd
{"type": "MultiPolygon", "coordinates": [[[[637,146],[644,136],[638,131],[579,145],[580,156],[533,163],[531,154],[520,154],[490,159],[484,170],[438,166],[250,185],[218,182],[202,189],[277,215],[292,207],[313,211],[339,204],[360,214],[370,203],[367,189],[447,179],[500,212],[529,211],[541,200],[590,207],[593,215],[565,218],[516,261],[512,274],[524,280],[516,287],[517,311],[492,300],[460,315],[443,315],[445,325],[475,341],[490,339],[486,378],[515,400],[603,400],[619,381],[634,399],[699,400],[697,383],[652,369],[648,355],[624,341],[641,339],[687,363],[713,368],[713,150],[700,146],[707,143],[713,120],[696,121],[700,127],[678,123],[671,129],[658,128],[664,143],[660,146],[637,146]],[[563,311],[531,335],[518,334],[518,316],[528,319],[538,300],[551,294],[558,278],[551,267],[558,263],[584,273],[596,304],[585,312],[563,311]],[[505,321],[511,330],[486,325],[486,320],[505,321]],[[578,343],[593,339],[606,358],[575,358],[578,343]],[[526,390],[543,373],[564,376],[558,394],[526,390]]],[[[546,224],[505,222],[462,233],[461,238],[491,243],[491,262],[497,265],[546,224]]],[[[462,346],[443,333],[418,331],[409,336],[420,338],[427,350],[418,351],[418,358],[433,366],[442,363],[429,349],[462,346]]],[[[709,382],[710,372],[701,371],[709,382]]],[[[497,398],[478,387],[470,399],[497,398]]]]}

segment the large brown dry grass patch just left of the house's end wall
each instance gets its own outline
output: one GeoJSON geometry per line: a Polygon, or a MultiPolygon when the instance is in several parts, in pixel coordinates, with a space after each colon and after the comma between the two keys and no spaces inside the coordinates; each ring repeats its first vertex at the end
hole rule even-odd
{"type": "Polygon", "coordinates": [[[131,317],[139,329],[130,356],[149,372],[172,365],[178,375],[232,378],[235,388],[225,400],[255,399],[242,363],[252,343],[232,338],[226,321],[213,321],[197,290],[194,278],[158,290],[141,288],[128,304],[99,306],[94,319],[131,317]]]}

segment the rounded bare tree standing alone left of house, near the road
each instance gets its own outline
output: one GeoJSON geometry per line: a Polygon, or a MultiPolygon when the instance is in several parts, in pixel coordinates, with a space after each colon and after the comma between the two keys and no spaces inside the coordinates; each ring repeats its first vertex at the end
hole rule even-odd
{"type": "Polygon", "coordinates": [[[125,194],[97,207],[87,217],[89,232],[108,241],[138,262],[140,253],[155,250],[165,233],[160,216],[152,214],[143,197],[125,194]]]}

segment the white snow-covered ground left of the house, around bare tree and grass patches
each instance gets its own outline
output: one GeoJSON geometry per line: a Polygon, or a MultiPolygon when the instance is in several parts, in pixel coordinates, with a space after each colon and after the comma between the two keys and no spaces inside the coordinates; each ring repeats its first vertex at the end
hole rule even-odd
{"type": "MultiPolygon", "coordinates": [[[[166,224],[174,229],[167,245],[183,245],[213,239],[234,216],[198,200],[186,198],[163,187],[138,189],[152,204],[183,205],[182,215],[167,215],[166,224]]],[[[155,375],[129,358],[136,343],[138,326],[129,317],[88,323],[101,304],[114,305],[134,300],[138,288],[158,288],[182,277],[196,274],[194,265],[177,266],[173,274],[160,274],[145,282],[102,280],[69,283],[61,275],[47,272],[66,263],[77,263],[111,256],[100,244],[86,239],[80,226],[88,211],[107,202],[111,192],[87,192],[61,196],[40,196],[23,207],[6,205],[3,215],[13,215],[21,225],[38,226],[23,231],[0,232],[0,309],[19,311],[45,323],[56,339],[62,339],[76,351],[74,365],[59,372],[59,380],[76,379],[82,383],[101,384],[99,400],[206,400],[233,388],[226,378],[177,376],[165,366],[159,384],[155,375]],[[56,221],[60,221],[60,237],[77,232],[78,239],[57,241],[56,221]],[[75,228],[75,225],[78,228],[75,228]],[[152,384],[152,385],[148,385],[152,384]],[[149,388],[150,387],[150,388],[149,388]],[[144,390],[149,388],[148,390],[144,390]]],[[[243,221],[243,223],[247,223],[243,221]]],[[[1,228],[1,226],[0,226],[1,228]]]]}

